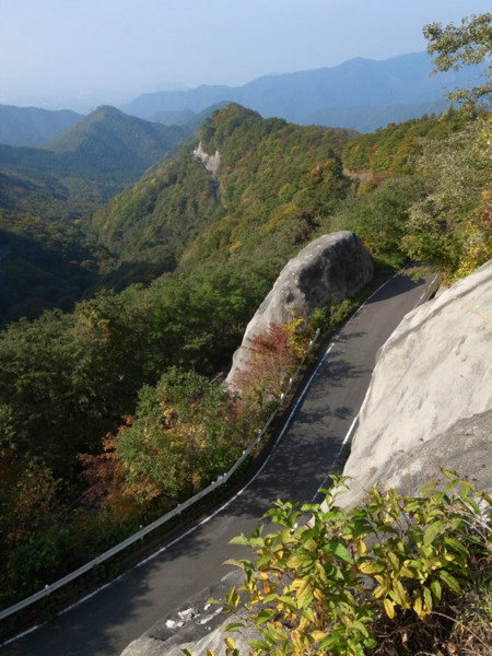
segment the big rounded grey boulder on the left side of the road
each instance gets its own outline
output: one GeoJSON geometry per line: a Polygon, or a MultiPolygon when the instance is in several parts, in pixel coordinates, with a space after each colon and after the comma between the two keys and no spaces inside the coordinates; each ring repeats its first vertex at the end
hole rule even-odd
{"type": "Polygon", "coordinates": [[[373,277],[373,262],[359,237],[340,231],[319,237],[290,260],[270,293],[246,327],[243,343],[234,353],[226,382],[234,387],[238,371],[247,368],[247,344],[270,324],[309,317],[314,309],[329,307],[353,296],[373,277]]]}

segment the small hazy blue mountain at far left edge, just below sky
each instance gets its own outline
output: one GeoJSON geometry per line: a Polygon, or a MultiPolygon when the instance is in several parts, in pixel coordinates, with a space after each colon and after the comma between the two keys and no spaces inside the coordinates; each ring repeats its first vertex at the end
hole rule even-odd
{"type": "Polygon", "coordinates": [[[62,109],[51,112],[37,107],[0,105],[0,143],[39,145],[75,125],[81,114],[62,109]]]}

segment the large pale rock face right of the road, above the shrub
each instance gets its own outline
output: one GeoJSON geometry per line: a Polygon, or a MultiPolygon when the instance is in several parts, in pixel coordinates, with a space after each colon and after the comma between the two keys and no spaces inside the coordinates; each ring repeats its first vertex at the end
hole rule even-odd
{"type": "Polygon", "coordinates": [[[408,314],[382,348],[343,475],[356,503],[455,469],[492,491],[492,260],[408,314]]]}

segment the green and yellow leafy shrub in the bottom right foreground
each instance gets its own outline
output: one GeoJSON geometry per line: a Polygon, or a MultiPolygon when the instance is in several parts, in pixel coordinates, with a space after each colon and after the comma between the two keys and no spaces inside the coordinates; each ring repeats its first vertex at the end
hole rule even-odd
{"type": "MultiPolygon", "coordinates": [[[[263,536],[259,526],[233,540],[250,548],[254,559],[229,561],[244,570],[245,582],[227,595],[224,612],[242,612],[224,630],[253,624],[255,656],[362,656],[376,646],[382,618],[394,625],[409,618],[425,623],[470,587],[470,564],[490,559],[492,548],[492,499],[445,473],[443,491],[434,484],[407,496],[374,488],[362,507],[349,511],[336,505],[343,478],[335,479],[320,505],[279,501],[266,514],[278,530],[263,536]],[[311,520],[297,526],[305,513],[311,520]]],[[[226,647],[238,656],[232,637],[226,647]]]]}

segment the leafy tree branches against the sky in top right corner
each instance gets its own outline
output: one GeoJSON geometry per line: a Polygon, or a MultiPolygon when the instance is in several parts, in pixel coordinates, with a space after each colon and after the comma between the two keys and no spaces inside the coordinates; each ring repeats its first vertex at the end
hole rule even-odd
{"type": "Polygon", "coordinates": [[[430,23],[423,28],[427,39],[429,55],[437,54],[434,60],[434,73],[445,72],[449,69],[459,70],[462,66],[488,62],[485,71],[488,81],[471,90],[460,89],[449,94],[449,99],[470,99],[490,97],[492,92],[492,14],[472,14],[469,19],[461,20],[461,25],[446,25],[430,23]]]}

